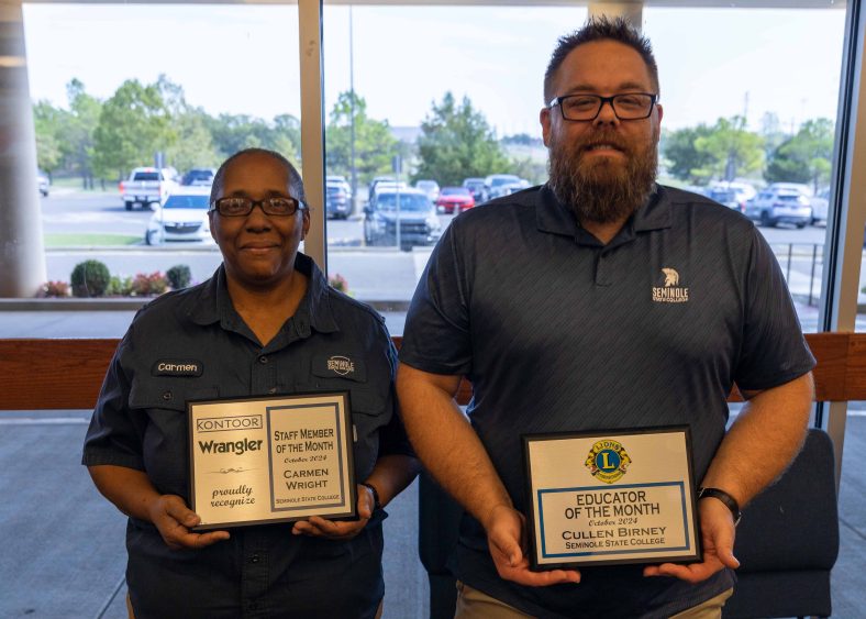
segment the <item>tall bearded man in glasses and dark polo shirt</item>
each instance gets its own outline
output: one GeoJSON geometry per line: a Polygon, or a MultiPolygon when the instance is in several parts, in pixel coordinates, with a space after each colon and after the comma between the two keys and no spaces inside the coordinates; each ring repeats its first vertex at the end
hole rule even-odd
{"type": "Polygon", "coordinates": [[[541,111],[549,181],[455,219],[415,291],[398,395],[468,512],[458,617],[718,617],[736,504],[803,439],[814,361],[771,251],[740,214],[655,184],[657,75],[620,20],[563,37],[541,111]],[[748,402],[725,433],[734,383],[748,402]],[[529,568],[521,434],[684,424],[718,490],[698,501],[702,562],[529,568]]]}

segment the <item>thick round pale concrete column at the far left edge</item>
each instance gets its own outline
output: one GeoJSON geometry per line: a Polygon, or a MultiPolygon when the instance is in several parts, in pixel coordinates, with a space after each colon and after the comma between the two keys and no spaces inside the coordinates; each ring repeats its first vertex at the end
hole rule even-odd
{"type": "Polygon", "coordinates": [[[46,279],[21,5],[0,0],[0,297],[32,297],[46,279]]]}

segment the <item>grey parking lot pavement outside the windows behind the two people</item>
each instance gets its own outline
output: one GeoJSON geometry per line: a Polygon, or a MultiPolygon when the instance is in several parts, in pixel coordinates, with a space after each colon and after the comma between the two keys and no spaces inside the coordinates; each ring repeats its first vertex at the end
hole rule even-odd
{"type": "MultiPolygon", "coordinates": [[[[321,210],[313,209],[313,217],[321,217],[321,210]]],[[[112,275],[122,277],[166,272],[182,264],[190,267],[193,281],[208,278],[220,264],[216,246],[201,242],[148,246],[144,235],[152,215],[151,210],[125,210],[116,190],[55,189],[42,199],[47,279],[69,281],[75,265],[90,258],[104,262],[112,275]]],[[[415,245],[411,251],[399,251],[396,245],[366,246],[363,217],[356,212],[345,220],[326,220],[327,272],[345,278],[351,294],[359,300],[406,305],[432,247],[415,245]]],[[[438,215],[443,230],[454,217],[438,215]]],[[[760,231],[773,245],[795,296],[803,300],[804,307],[817,305],[826,229],[782,224],[760,231]]],[[[861,288],[864,286],[866,280],[861,288]]],[[[804,322],[817,321],[807,316],[801,318],[804,322]]]]}

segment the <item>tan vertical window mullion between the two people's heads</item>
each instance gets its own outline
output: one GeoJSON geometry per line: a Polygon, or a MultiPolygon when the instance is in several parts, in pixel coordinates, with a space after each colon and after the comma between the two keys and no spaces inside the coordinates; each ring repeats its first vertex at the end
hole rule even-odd
{"type": "Polygon", "coordinates": [[[304,253],[327,273],[324,201],[324,63],[322,1],[298,0],[301,75],[301,165],[307,201],[312,207],[304,253]]]}

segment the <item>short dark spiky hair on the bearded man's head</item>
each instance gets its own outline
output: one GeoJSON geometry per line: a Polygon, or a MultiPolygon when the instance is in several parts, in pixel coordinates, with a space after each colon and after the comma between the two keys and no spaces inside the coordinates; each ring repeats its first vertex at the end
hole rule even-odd
{"type": "Polygon", "coordinates": [[[580,30],[576,30],[571,34],[559,37],[556,49],[554,49],[551,55],[547,70],[544,73],[545,106],[553,99],[553,92],[551,92],[553,79],[566,56],[577,46],[595,41],[615,41],[637,52],[646,64],[653,88],[655,88],[656,95],[658,93],[658,65],[655,62],[653,46],[650,44],[650,40],[633,29],[631,24],[622,18],[609,19],[607,15],[599,15],[587,20],[587,23],[584,24],[584,27],[580,30]]]}

